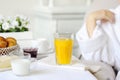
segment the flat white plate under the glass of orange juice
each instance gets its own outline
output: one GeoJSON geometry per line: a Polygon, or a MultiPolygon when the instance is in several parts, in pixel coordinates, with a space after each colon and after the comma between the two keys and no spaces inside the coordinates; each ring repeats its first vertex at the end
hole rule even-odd
{"type": "Polygon", "coordinates": [[[79,63],[79,60],[73,57],[71,64],[69,65],[57,65],[55,61],[55,55],[51,54],[50,56],[38,60],[38,64],[46,67],[51,68],[58,68],[58,69],[72,69],[72,70],[86,70],[86,66],[82,63],[79,63]]]}

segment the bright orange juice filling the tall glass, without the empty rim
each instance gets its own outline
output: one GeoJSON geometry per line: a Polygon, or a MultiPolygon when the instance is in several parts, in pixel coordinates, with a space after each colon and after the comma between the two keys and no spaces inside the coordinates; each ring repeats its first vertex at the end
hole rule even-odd
{"type": "Polygon", "coordinates": [[[54,43],[56,50],[56,63],[70,64],[71,56],[72,56],[73,40],[56,38],[54,43]]]}

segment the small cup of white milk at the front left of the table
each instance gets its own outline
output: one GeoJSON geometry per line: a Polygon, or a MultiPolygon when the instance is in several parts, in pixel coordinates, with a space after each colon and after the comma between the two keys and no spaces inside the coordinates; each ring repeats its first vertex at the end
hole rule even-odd
{"type": "Polygon", "coordinates": [[[15,59],[11,61],[12,71],[15,75],[25,76],[30,73],[30,60],[15,59]]]}

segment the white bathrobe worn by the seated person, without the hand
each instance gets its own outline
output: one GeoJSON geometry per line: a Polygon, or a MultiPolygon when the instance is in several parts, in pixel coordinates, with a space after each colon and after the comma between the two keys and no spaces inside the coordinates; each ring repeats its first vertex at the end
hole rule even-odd
{"type": "MultiPolygon", "coordinates": [[[[85,60],[101,61],[120,70],[120,6],[111,9],[115,13],[115,23],[101,23],[91,38],[88,37],[84,24],[76,34],[82,56],[85,60]]],[[[120,80],[120,79],[119,79],[120,80]]]]}

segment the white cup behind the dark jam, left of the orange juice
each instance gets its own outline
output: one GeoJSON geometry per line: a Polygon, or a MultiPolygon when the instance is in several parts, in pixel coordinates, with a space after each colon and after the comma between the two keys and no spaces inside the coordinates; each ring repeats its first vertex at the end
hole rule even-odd
{"type": "Polygon", "coordinates": [[[38,53],[46,53],[50,49],[49,41],[45,38],[36,40],[38,42],[38,53]]]}

